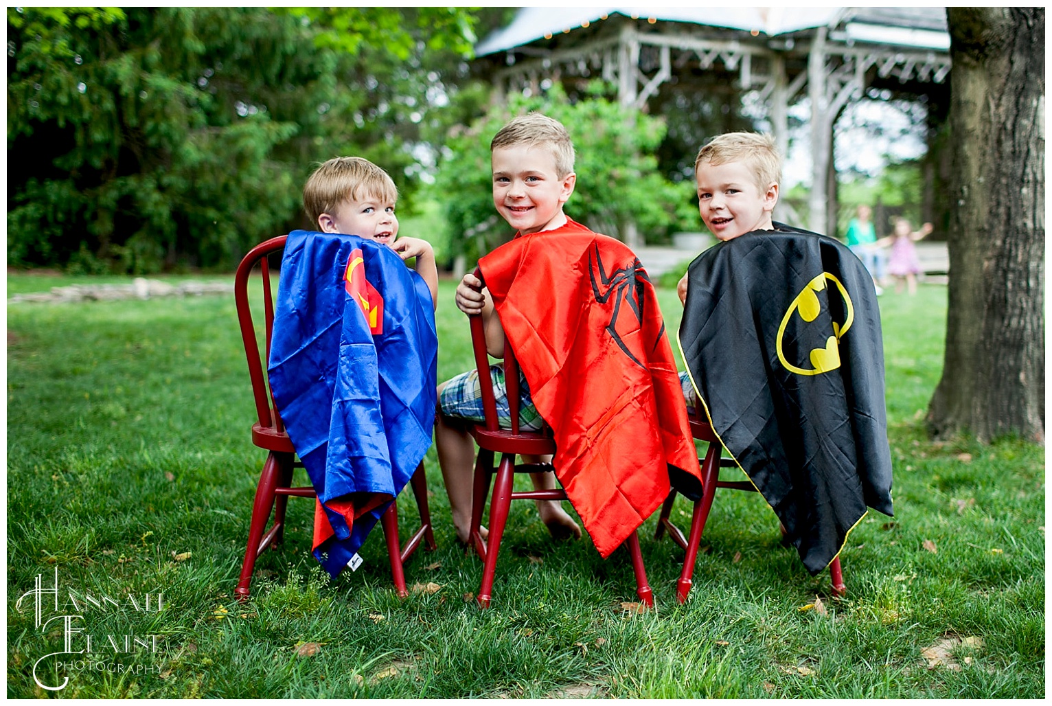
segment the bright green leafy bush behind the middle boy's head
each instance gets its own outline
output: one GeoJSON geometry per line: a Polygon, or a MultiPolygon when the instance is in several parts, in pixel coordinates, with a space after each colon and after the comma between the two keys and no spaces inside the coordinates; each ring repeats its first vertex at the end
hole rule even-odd
{"type": "MultiPolygon", "coordinates": [[[[602,88],[596,84],[596,94],[602,88]]],[[[653,153],[665,136],[664,121],[598,95],[569,102],[557,85],[544,96],[511,96],[507,105],[450,130],[436,191],[445,202],[453,254],[478,258],[511,235],[493,208],[489,142],[508,120],[531,110],[562,122],[573,141],[578,180],[568,216],[615,238],[629,223],[651,241],[666,235],[692,189],[658,170],[653,153]]]]}

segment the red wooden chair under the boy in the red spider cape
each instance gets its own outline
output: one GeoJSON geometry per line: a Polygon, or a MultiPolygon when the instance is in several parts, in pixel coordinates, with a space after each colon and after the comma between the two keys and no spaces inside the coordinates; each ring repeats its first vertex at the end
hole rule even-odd
{"type": "MultiPolygon", "coordinates": [[[[483,281],[482,271],[474,270],[474,276],[483,281]]],[[[483,282],[485,286],[485,282],[483,282]]],[[[497,554],[501,546],[501,538],[507,523],[508,511],[512,500],[566,500],[566,490],[512,490],[514,475],[519,472],[538,472],[552,470],[550,463],[526,464],[515,463],[515,457],[521,453],[533,456],[552,455],[555,443],[551,430],[545,425],[544,430],[521,431],[519,429],[520,391],[519,363],[515,360],[511,344],[504,342],[504,379],[507,386],[508,409],[511,417],[511,429],[502,429],[497,419],[497,397],[491,385],[486,384],[489,377],[489,359],[486,352],[486,337],[482,326],[482,316],[468,317],[471,324],[471,344],[474,349],[474,363],[479,370],[479,387],[482,390],[482,404],[486,421],[470,427],[471,436],[479,445],[479,456],[474,466],[474,496],[471,502],[471,528],[469,542],[484,562],[482,585],[476,601],[486,608],[492,599],[493,578],[497,573],[497,554]],[[499,467],[493,465],[494,453],[501,455],[499,467]],[[486,493],[489,490],[490,479],[497,475],[493,483],[493,497],[489,504],[489,538],[482,538],[483,508],[486,505],[486,493]]],[[[647,584],[646,569],[643,566],[643,553],[640,550],[640,540],[635,532],[628,538],[629,550],[632,556],[632,570],[635,572],[635,592],[647,606],[653,606],[653,592],[647,584]]]]}

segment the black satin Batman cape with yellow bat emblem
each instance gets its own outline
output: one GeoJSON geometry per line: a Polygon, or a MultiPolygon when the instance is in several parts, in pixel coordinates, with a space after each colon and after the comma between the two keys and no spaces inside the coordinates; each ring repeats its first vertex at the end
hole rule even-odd
{"type": "Polygon", "coordinates": [[[814,574],[866,506],[892,513],[881,314],[847,246],[774,227],[690,263],[680,350],[712,428],[814,574]]]}

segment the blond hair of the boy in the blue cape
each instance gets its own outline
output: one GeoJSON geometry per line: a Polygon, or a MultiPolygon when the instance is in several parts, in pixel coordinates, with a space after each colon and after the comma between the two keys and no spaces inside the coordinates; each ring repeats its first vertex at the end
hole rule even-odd
{"type": "Polygon", "coordinates": [[[322,214],[333,214],[348,200],[375,198],[393,203],[398,187],[390,176],[361,157],[336,157],[322,163],[303,185],[303,209],[311,225],[322,214]]]}

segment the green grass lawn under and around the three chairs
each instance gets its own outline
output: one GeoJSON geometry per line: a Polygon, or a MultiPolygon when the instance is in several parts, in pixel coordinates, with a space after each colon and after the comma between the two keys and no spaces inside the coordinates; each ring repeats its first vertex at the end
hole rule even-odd
{"type": "MultiPolygon", "coordinates": [[[[9,291],[31,289],[8,275],[9,291]]],[[[470,364],[452,290],[441,283],[440,380],[470,364]]],[[[675,295],[661,297],[674,329],[675,295]]],[[[651,539],[656,518],[644,525],[658,607],[641,614],[622,606],[635,600],[627,552],[604,561],[587,538],[550,541],[531,503],[512,507],[492,607],[465,602],[482,566],[457,546],[433,448],[425,464],[439,549],[419,551],[406,578],[437,591],[398,599],[379,528],[363,566],[327,581],[309,556],[312,505],[292,499],[284,546],[260,558],[252,598],[239,605],[265,455],[249,440],[231,299],[11,305],[7,694],[1043,698],[1044,448],[929,442],[923,416],[943,364],[946,288],[879,302],[895,517],[871,511],[851,533],[848,596],[831,596],[828,572],[812,579],[780,546],[762,498],[728,490],[686,605],[674,598],[682,551],[651,539]],[[81,668],[70,655],[58,674],[55,658],[41,662],[45,684],[69,678],[47,692],[32,673],[63,649],[61,620],[38,628],[32,597],[21,610],[16,601],[39,574],[52,586],[56,569],[60,606],[46,597],[43,620],[82,616],[75,627],[93,637],[93,652],[76,655],[81,668]],[[128,593],[140,608],[150,593],[155,609],[136,610],[128,593]],[[804,609],[816,597],[821,606],[804,609]],[[133,638],[125,649],[124,636],[158,636],[157,651],[133,638]],[[929,668],[925,650],[939,649],[949,665],[929,668]]],[[[399,505],[408,531],[410,493],[399,505]]],[[[673,516],[689,523],[685,501],[673,516]]],[[[75,636],[73,649],[83,646],[75,636]]]]}

